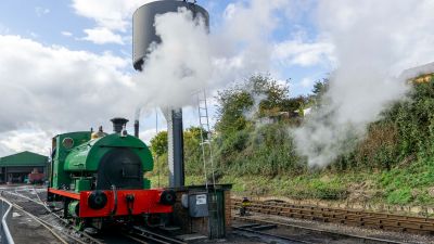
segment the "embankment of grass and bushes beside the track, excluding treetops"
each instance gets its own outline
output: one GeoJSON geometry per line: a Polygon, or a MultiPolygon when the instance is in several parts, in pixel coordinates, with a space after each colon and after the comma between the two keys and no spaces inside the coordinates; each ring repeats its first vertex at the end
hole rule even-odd
{"type": "MultiPolygon", "coordinates": [[[[309,168],[295,153],[291,128],[297,123],[258,126],[241,114],[226,121],[238,128],[227,129],[221,125],[226,115],[220,113],[213,140],[214,162],[218,182],[233,183],[235,194],[434,207],[433,81],[414,85],[407,100],[369,126],[363,140],[321,169],[309,168]]],[[[186,134],[189,184],[204,182],[197,134],[194,129],[186,134]]],[[[166,152],[162,154],[156,169],[167,168],[166,152]]],[[[161,182],[167,182],[163,178],[161,182]]]]}

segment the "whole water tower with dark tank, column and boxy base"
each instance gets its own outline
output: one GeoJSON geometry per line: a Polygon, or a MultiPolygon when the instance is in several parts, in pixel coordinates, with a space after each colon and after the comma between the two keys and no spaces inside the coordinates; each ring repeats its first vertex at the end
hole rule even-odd
{"type": "MultiPolygon", "coordinates": [[[[209,15],[202,7],[188,1],[161,0],[140,7],[132,17],[133,67],[146,72],[144,61],[153,43],[162,40],[155,33],[155,16],[177,12],[184,8],[194,17],[202,17],[209,26],[209,15]]],[[[184,35],[189,35],[186,33],[184,35]]],[[[186,57],[188,59],[188,57],[186,57]]],[[[168,70],[169,72],[169,70],[168,70]]],[[[184,185],[182,108],[161,107],[168,132],[169,187],[176,191],[177,202],[174,207],[173,223],[181,227],[184,233],[206,234],[208,239],[226,235],[230,227],[230,189],[231,184],[184,185]],[[204,224],[206,223],[207,224],[204,224]]]]}

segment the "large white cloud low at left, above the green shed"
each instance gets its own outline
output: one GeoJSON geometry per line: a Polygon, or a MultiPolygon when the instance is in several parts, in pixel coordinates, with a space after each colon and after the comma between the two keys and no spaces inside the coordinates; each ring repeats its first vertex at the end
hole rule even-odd
{"type": "Polygon", "coordinates": [[[112,117],[133,115],[135,85],[124,72],[128,59],[47,47],[18,36],[0,36],[0,53],[3,152],[22,150],[26,134],[49,141],[43,134],[106,128],[112,117]]]}

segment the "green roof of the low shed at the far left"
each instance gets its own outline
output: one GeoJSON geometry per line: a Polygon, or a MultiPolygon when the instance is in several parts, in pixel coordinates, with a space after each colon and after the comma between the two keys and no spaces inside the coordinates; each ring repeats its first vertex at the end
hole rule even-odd
{"type": "Polygon", "coordinates": [[[48,157],[24,151],[5,157],[0,157],[0,167],[4,166],[47,166],[48,157]]]}

